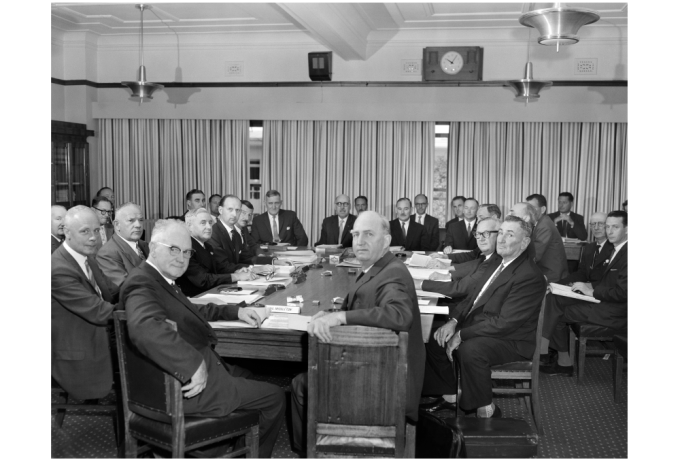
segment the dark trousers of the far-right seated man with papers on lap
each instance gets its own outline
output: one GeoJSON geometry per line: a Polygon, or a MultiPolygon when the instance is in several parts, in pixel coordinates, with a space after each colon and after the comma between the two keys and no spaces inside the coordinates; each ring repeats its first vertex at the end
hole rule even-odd
{"type": "Polygon", "coordinates": [[[550,347],[557,351],[569,351],[569,324],[588,322],[590,310],[597,304],[570,297],[548,294],[545,298],[543,338],[550,340],[550,347]]]}

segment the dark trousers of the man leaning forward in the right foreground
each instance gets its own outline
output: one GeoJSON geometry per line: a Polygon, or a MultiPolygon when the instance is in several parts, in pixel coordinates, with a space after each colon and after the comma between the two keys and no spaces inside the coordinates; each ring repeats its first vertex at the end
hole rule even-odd
{"type": "Polygon", "coordinates": [[[456,351],[460,364],[460,407],[473,410],[493,401],[491,366],[522,361],[516,343],[491,337],[475,337],[461,343],[456,351]]]}

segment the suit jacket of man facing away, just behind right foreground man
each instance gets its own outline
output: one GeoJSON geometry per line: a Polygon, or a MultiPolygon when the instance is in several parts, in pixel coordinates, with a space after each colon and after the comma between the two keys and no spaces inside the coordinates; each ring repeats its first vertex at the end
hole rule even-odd
{"type": "Polygon", "coordinates": [[[556,283],[569,275],[562,237],[554,222],[545,214],[534,227],[528,252],[549,283],[556,283]]]}

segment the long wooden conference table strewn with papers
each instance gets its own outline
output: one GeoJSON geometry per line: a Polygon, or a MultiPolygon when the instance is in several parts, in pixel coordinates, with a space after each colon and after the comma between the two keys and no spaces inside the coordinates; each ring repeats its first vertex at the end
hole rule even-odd
{"type": "MultiPolygon", "coordinates": [[[[302,249],[302,248],[301,248],[302,249]]],[[[270,251],[279,253],[284,252],[285,248],[272,246],[270,251]]],[[[303,302],[294,305],[301,306],[301,315],[313,316],[319,311],[328,310],[333,307],[340,308],[341,303],[333,303],[334,297],[344,298],[349,292],[351,283],[356,276],[361,273],[360,268],[356,268],[355,274],[350,274],[349,267],[338,267],[327,262],[321,262],[323,268],[310,268],[307,271],[306,280],[299,284],[291,284],[283,290],[275,291],[257,301],[263,305],[288,305],[287,298],[302,296],[303,302]],[[323,272],[332,272],[331,276],[322,275],[323,272]],[[314,301],[319,301],[319,305],[313,305],[314,301]]],[[[321,257],[317,258],[320,262],[321,257]]],[[[218,293],[223,286],[211,289],[202,293],[200,296],[211,293],[218,293]]],[[[258,290],[260,295],[264,295],[264,289],[258,290]]],[[[260,307],[261,308],[261,307],[260,307]]],[[[218,343],[215,350],[220,356],[231,358],[250,358],[267,359],[278,361],[297,361],[307,360],[307,332],[288,330],[288,329],[265,329],[265,328],[214,328],[218,343]]]]}

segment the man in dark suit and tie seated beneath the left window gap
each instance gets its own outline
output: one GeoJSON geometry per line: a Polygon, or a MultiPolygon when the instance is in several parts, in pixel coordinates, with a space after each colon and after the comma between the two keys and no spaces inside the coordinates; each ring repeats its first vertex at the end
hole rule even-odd
{"type": "Polygon", "coordinates": [[[309,239],[294,211],[281,209],[281,194],[266,193],[267,212],[253,219],[253,239],[257,243],[288,243],[307,247],[309,239]]]}

